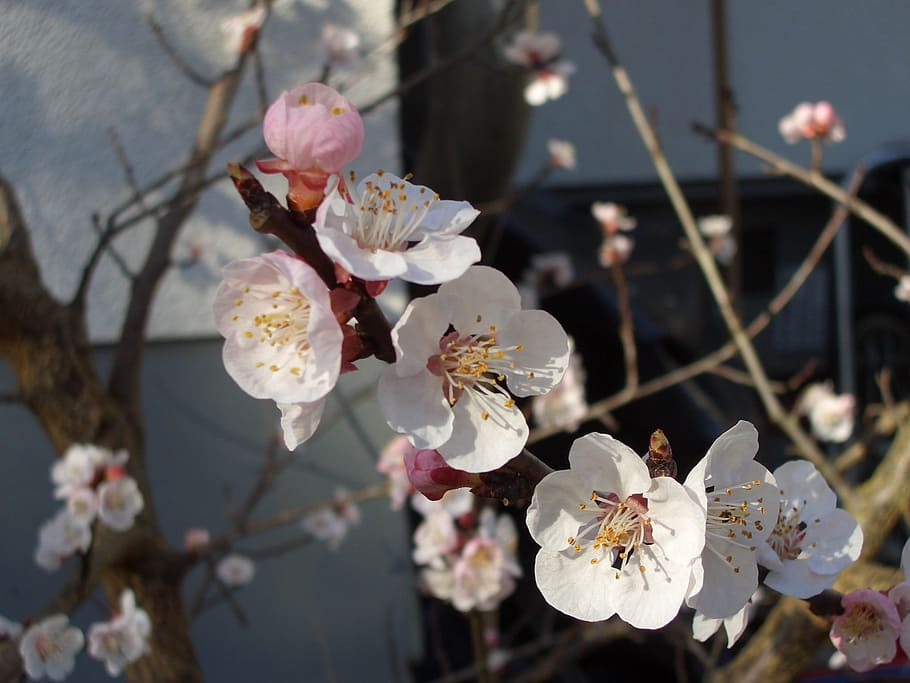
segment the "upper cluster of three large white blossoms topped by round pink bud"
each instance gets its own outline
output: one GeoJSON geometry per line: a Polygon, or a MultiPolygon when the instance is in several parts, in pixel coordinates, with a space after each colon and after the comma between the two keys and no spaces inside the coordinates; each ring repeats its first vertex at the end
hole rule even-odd
{"type": "Polygon", "coordinates": [[[357,320],[363,297],[392,278],[441,285],[391,330],[396,362],[379,387],[386,420],[453,467],[487,471],[516,456],[528,427],[513,395],[552,389],[568,341],[549,314],[521,310],[504,275],[471,265],[480,249],[461,233],[478,211],[383,171],[359,182],[346,175],[363,123],[320,83],[282,93],[264,137],[277,158],[257,166],[288,179],[288,205],[310,217],[335,277],[284,251],[229,264],[214,304],[228,374],[251,396],[275,401],[294,449],[315,432],[339,375],[372,353],[357,320]]]}

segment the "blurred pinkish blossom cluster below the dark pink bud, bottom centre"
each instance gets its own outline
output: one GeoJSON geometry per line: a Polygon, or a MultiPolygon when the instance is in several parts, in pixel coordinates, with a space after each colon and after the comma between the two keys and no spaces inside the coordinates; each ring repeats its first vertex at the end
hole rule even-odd
{"type": "Polygon", "coordinates": [[[495,609],[521,576],[512,518],[490,508],[476,514],[474,500],[466,489],[449,491],[439,501],[412,498],[423,515],[413,553],[421,586],[462,612],[495,609]]]}

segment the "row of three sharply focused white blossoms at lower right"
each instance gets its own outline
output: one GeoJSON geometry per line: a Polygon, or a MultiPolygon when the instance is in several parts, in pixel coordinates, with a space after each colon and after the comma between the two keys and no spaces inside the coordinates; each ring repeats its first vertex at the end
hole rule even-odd
{"type": "Polygon", "coordinates": [[[859,557],[859,525],[813,465],[788,462],[772,474],[757,451],[758,433],[740,421],[680,484],[652,476],[646,459],[606,434],[577,439],[570,469],[546,476],[528,508],[544,598],[578,619],[616,614],[638,628],[660,628],[686,604],[697,638],[723,624],[732,645],[758,565],[786,595],[829,588],[859,557]]]}

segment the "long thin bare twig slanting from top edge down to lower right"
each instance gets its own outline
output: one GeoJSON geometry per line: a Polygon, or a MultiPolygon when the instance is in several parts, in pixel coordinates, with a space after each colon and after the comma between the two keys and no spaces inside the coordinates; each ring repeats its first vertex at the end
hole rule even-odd
{"type": "Polygon", "coordinates": [[[768,384],[768,377],[758,358],[758,354],[755,352],[755,348],[752,346],[749,337],[746,335],[742,324],[733,309],[729,293],[717,270],[714,257],[699,233],[692,211],[670,169],[670,165],[664,156],[660,143],[654,135],[654,130],[642,110],[641,103],[632,86],[632,81],[629,79],[625,68],[619,62],[619,59],[610,44],[609,38],[607,37],[606,26],[603,22],[600,3],[598,0],[585,0],[585,6],[588,9],[594,26],[594,43],[610,65],[610,71],[616,81],[617,87],[625,98],[626,107],[629,110],[632,121],[638,130],[639,136],[642,138],[642,142],[644,142],[645,148],[651,156],[651,161],[654,164],[657,175],[682,224],[686,238],[692,247],[695,260],[708,283],[708,288],[717,304],[721,317],[727,326],[733,342],[736,344],[737,350],[742,357],[749,374],[752,375],[756,391],[762,400],[762,404],[765,406],[765,410],[768,412],[771,419],[787,433],[790,440],[796,444],[800,453],[818,468],[825,479],[831,484],[832,488],[840,495],[841,499],[844,500],[845,503],[849,502],[853,495],[849,484],[844,480],[841,474],[831,466],[831,463],[825,458],[824,453],[821,452],[818,446],[800,427],[797,420],[784,411],[777,397],[774,395],[774,392],[771,390],[768,384]]]}

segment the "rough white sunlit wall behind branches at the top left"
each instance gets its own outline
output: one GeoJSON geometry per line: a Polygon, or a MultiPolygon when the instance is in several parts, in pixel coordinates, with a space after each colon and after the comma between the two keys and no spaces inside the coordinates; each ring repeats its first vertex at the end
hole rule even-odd
{"type": "MultiPolygon", "coordinates": [[[[214,75],[231,63],[220,25],[245,0],[13,0],[0,20],[0,173],[16,187],[45,280],[62,298],[72,295],[93,245],[90,216],[104,215],[129,196],[108,142],[116,126],[139,182],[180,163],[189,150],[205,92],[190,84],[159,49],[142,18],[154,12],[171,42],[199,72],[214,75]]],[[[356,28],[366,46],[392,27],[391,0],[278,0],[261,40],[269,93],[315,78],[319,32],[332,20],[356,28]]],[[[349,93],[367,102],[395,82],[390,59],[349,93]]],[[[247,79],[231,117],[256,111],[247,79]]],[[[396,105],[367,120],[358,170],[398,165],[396,105]]],[[[259,131],[220,154],[212,170],[252,150],[259,131]]],[[[274,186],[279,196],[280,185],[274,186]]],[[[132,265],[141,262],[151,235],[144,223],[117,240],[132,265]]],[[[153,337],[210,335],[211,301],[221,266],[262,251],[228,182],[202,201],[180,240],[180,252],[201,243],[202,262],[171,272],[151,321],[153,337]]],[[[180,253],[178,253],[180,256],[180,253]]],[[[93,339],[113,339],[126,301],[126,282],[106,259],[91,292],[93,339]]]]}

